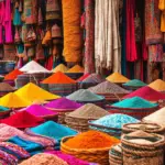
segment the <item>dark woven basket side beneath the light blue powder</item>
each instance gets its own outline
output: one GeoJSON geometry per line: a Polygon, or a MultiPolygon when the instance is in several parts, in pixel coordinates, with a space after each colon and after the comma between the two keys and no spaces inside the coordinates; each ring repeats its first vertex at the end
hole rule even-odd
{"type": "Polygon", "coordinates": [[[105,132],[111,136],[120,138],[121,136],[121,129],[116,128],[108,128],[99,124],[91,123],[91,121],[88,122],[89,129],[91,130],[99,130],[101,132],[105,132]]]}

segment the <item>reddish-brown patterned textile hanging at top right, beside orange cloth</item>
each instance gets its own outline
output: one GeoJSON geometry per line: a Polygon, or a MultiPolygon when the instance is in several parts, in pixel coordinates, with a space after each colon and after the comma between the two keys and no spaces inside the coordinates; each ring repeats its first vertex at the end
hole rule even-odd
{"type": "Polygon", "coordinates": [[[158,0],[145,0],[145,42],[147,45],[162,43],[163,33],[160,25],[158,0]]]}

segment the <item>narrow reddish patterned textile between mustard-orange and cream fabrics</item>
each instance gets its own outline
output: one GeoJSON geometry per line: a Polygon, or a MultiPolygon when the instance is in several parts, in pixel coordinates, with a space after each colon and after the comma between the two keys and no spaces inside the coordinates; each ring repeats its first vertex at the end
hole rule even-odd
{"type": "Polygon", "coordinates": [[[85,28],[86,28],[86,43],[85,43],[85,73],[95,73],[95,1],[85,0],[85,28]]]}

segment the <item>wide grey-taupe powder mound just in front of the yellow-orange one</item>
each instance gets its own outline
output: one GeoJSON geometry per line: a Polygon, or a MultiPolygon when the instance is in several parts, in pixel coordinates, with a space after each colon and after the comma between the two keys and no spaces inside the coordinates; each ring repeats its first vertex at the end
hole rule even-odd
{"type": "Polygon", "coordinates": [[[110,81],[103,81],[88,90],[95,94],[129,94],[128,90],[110,81]]]}

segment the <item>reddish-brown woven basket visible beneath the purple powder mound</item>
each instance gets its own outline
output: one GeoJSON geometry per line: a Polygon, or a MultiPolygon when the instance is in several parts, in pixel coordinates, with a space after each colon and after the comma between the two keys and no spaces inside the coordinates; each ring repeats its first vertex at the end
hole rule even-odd
{"type": "Polygon", "coordinates": [[[61,124],[65,124],[65,117],[67,113],[69,112],[73,112],[75,111],[75,109],[55,109],[55,108],[48,108],[48,107],[45,107],[46,109],[48,110],[52,110],[52,111],[55,111],[55,112],[58,112],[58,123],[61,124]]]}

